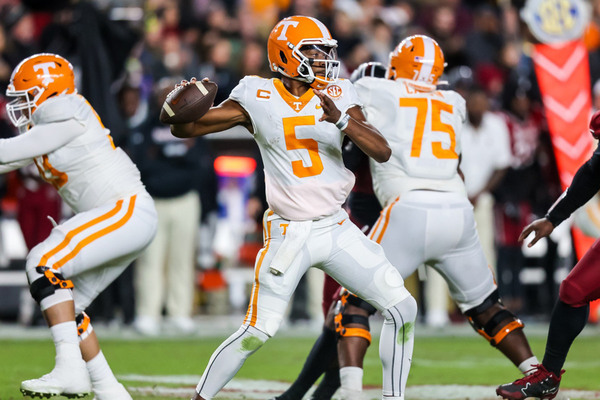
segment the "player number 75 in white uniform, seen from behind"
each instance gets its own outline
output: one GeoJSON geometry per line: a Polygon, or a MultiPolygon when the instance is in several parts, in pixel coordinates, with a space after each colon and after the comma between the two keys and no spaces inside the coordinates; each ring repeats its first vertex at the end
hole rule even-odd
{"type": "Polygon", "coordinates": [[[436,41],[416,35],[390,54],[387,79],[355,83],[368,121],[392,148],[387,163],[371,163],[384,209],[370,238],[402,276],[421,264],[440,272],[473,327],[524,372],[538,360],[523,323],[500,302],[479,243],[458,169],[465,101],[454,91],[437,90],[444,67],[436,41]]]}

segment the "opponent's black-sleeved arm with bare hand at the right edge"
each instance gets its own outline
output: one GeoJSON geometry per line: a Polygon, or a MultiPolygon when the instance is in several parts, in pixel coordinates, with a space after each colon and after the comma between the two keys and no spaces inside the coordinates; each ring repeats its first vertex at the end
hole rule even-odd
{"type": "Polygon", "coordinates": [[[575,210],[587,203],[600,190],[600,148],[583,166],[579,167],[571,182],[571,186],[554,203],[544,218],[533,221],[521,233],[519,240],[525,239],[535,231],[535,237],[529,247],[539,239],[548,236],[560,222],[569,218],[575,210]]]}

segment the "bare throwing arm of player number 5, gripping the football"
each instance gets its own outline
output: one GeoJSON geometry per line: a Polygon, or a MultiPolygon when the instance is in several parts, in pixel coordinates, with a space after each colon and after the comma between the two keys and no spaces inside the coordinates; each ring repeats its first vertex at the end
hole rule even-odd
{"type": "MultiPolygon", "coordinates": [[[[196,82],[194,78],[191,79],[191,82],[184,80],[181,85],[190,85],[194,82],[196,82]]],[[[254,133],[250,116],[244,107],[237,101],[227,99],[217,107],[211,107],[205,115],[194,122],[171,125],[171,133],[173,136],[182,138],[204,136],[209,133],[225,131],[238,125],[242,125],[250,133],[254,133]]]]}

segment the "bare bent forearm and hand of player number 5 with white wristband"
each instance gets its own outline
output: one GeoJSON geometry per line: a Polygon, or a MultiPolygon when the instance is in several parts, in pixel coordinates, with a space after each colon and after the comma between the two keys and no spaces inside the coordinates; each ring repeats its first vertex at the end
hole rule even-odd
{"type": "Polygon", "coordinates": [[[334,102],[323,92],[313,89],[314,93],[321,100],[320,106],[323,110],[323,115],[319,121],[327,121],[335,124],[341,129],[352,142],[355,143],[366,155],[373,158],[377,163],[385,163],[392,155],[392,149],[389,148],[388,141],[373,125],[367,122],[365,115],[362,113],[361,107],[355,106],[349,109],[346,114],[347,118],[342,115],[341,111],[335,106],[334,102]]]}

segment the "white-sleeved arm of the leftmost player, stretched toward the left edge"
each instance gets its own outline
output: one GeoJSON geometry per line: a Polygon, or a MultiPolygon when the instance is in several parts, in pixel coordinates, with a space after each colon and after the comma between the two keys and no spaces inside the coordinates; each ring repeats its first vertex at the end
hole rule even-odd
{"type": "Polygon", "coordinates": [[[84,127],[75,119],[31,127],[10,139],[0,139],[0,164],[31,160],[66,145],[83,133],[84,127]]]}

